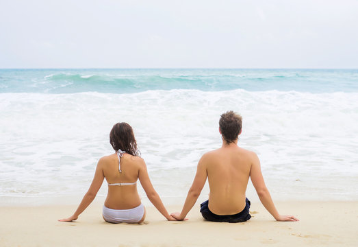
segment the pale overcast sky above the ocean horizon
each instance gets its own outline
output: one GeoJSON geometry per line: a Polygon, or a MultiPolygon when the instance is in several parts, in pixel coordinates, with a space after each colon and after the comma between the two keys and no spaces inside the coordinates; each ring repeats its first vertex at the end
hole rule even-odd
{"type": "Polygon", "coordinates": [[[0,68],[355,68],[358,0],[0,0],[0,68]]]}

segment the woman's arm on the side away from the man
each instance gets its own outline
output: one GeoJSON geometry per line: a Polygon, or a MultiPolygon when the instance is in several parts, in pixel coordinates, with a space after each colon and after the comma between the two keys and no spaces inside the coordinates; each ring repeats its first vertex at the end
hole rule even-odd
{"type": "Polygon", "coordinates": [[[94,178],[92,180],[90,189],[88,189],[87,193],[84,195],[84,198],[82,199],[75,213],[73,213],[71,217],[59,221],[72,222],[73,220],[77,220],[78,216],[88,207],[89,204],[91,204],[91,202],[96,197],[97,192],[101,188],[103,179],[105,178],[102,167],[103,167],[103,159],[101,158],[97,164],[96,172],[94,173],[94,178]]]}

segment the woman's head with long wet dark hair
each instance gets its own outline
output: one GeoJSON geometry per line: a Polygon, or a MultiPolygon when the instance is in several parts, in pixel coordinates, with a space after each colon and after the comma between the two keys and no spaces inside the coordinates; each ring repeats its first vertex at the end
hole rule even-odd
{"type": "Polygon", "coordinates": [[[127,123],[114,124],[110,132],[110,143],[114,150],[122,150],[133,156],[139,155],[133,129],[127,123]]]}

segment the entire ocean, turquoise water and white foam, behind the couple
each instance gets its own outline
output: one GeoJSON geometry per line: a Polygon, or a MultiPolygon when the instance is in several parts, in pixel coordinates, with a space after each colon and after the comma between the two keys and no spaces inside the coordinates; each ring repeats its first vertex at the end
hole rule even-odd
{"type": "Polygon", "coordinates": [[[274,200],[358,200],[358,70],[0,69],[0,204],[79,201],[118,121],[159,196],[181,204],[227,110],[274,200]]]}

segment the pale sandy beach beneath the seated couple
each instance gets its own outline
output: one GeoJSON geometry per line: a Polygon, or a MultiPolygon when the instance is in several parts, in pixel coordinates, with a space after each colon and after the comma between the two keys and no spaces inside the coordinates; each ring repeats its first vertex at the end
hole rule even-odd
{"type": "MultiPolygon", "coordinates": [[[[77,205],[1,207],[0,246],[356,246],[358,202],[276,202],[280,213],[300,222],[276,222],[261,203],[251,205],[251,220],[239,224],[207,222],[196,204],[186,222],[168,222],[146,207],[144,224],[109,224],[102,200],[77,222],[57,222],[77,205]]],[[[179,211],[181,206],[170,206],[179,211]]]]}

